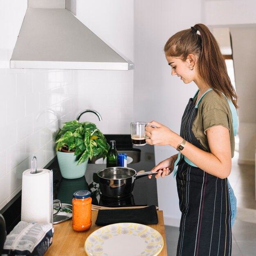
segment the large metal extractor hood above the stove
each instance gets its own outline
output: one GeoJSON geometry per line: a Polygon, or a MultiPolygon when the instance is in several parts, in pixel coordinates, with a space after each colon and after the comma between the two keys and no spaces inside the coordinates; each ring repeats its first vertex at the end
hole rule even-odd
{"type": "Polygon", "coordinates": [[[65,0],[28,0],[10,67],[130,70],[133,63],[65,9],[65,0]]]}

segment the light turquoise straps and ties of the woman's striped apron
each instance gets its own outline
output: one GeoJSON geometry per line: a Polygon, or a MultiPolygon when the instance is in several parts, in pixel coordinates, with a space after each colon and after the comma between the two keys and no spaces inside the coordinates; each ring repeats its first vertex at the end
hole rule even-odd
{"type": "MultiPolygon", "coordinates": [[[[206,92],[204,92],[204,94],[201,96],[201,98],[199,99],[198,103],[196,103],[195,108],[198,108],[199,103],[202,101],[202,98],[204,97],[205,94],[207,94],[207,92],[213,90],[212,88],[209,88],[206,92]]],[[[199,90],[197,90],[197,92],[195,93],[193,100],[195,99],[195,97],[198,95],[199,90]]],[[[224,94],[223,94],[224,95],[224,94]]],[[[225,96],[225,95],[224,95],[225,96]]],[[[225,98],[227,99],[227,97],[225,96],[225,98]]],[[[237,127],[238,127],[238,117],[237,117],[237,111],[236,111],[236,107],[234,106],[233,102],[230,99],[227,99],[227,102],[229,103],[229,108],[231,111],[231,115],[232,115],[232,124],[233,124],[233,129],[234,129],[234,135],[236,136],[237,133],[237,127]]],[[[187,157],[184,157],[184,155],[182,155],[180,152],[178,153],[178,157],[177,160],[174,162],[174,167],[173,167],[173,177],[175,177],[178,168],[177,168],[177,164],[180,162],[180,159],[184,158],[184,161],[194,167],[198,167],[195,164],[193,164],[193,162],[191,162],[187,157]]]]}

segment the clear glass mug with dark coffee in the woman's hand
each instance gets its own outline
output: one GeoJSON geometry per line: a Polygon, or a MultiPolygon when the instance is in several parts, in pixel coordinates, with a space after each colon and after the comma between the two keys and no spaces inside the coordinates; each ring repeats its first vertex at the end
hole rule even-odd
{"type": "MultiPolygon", "coordinates": [[[[146,139],[148,137],[145,135],[145,126],[151,126],[151,125],[148,125],[147,122],[130,123],[132,145],[134,146],[146,145],[146,139]]],[[[156,128],[155,126],[151,126],[151,127],[156,128]]]]}

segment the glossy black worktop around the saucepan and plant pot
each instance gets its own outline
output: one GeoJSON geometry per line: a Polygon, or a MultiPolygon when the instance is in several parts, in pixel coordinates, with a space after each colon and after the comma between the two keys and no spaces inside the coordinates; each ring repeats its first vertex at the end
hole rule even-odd
{"type": "MultiPolygon", "coordinates": [[[[155,166],[154,146],[146,144],[145,146],[132,146],[130,135],[105,135],[108,142],[115,139],[117,150],[127,150],[136,148],[140,150],[140,161],[127,164],[127,167],[135,171],[150,171],[155,166]]],[[[88,163],[85,177],[79,179],[65,179],[61,176],[57,159],[54,159],[48,169],[53,169],[54,176],[54,199],[61,200],[62,203],[72,204],[73,193],[78,190],[89,190],[92,192],[92,203],[107,206],[122,205],[156,205],[157,201],[157,182],[154,177],[148,179],[148,176],[137,178],[131,195],[125,198],[108,198],[101,195],[97,172],[106,168],[106,164],[88,163]]]]}

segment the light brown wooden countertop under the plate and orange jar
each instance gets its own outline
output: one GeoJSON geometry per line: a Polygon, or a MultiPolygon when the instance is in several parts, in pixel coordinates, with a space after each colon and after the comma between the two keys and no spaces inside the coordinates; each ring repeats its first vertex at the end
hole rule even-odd
{"type": "MultiPolygon", "coordinates": [[[[118,211],[118,210],[117,210],[118,211]]],[[[80,256],[87,255],[84,250],[86,238],[100,226],[95,225],[98,211],[92,211],[92,226],[89,230],[84,232],[76,232],[72,229],[72,220],[67,220],[58,224],[54,224],[53,243],[45,253],[45,256],[80,256]]],[[[163,211],[157,211],[158,224],[148,225],[157,230],[164,238],[164,247],[158,254],[159,256],[166,256],[166,238],[164,230],[164,216],[163,211]]]]}

